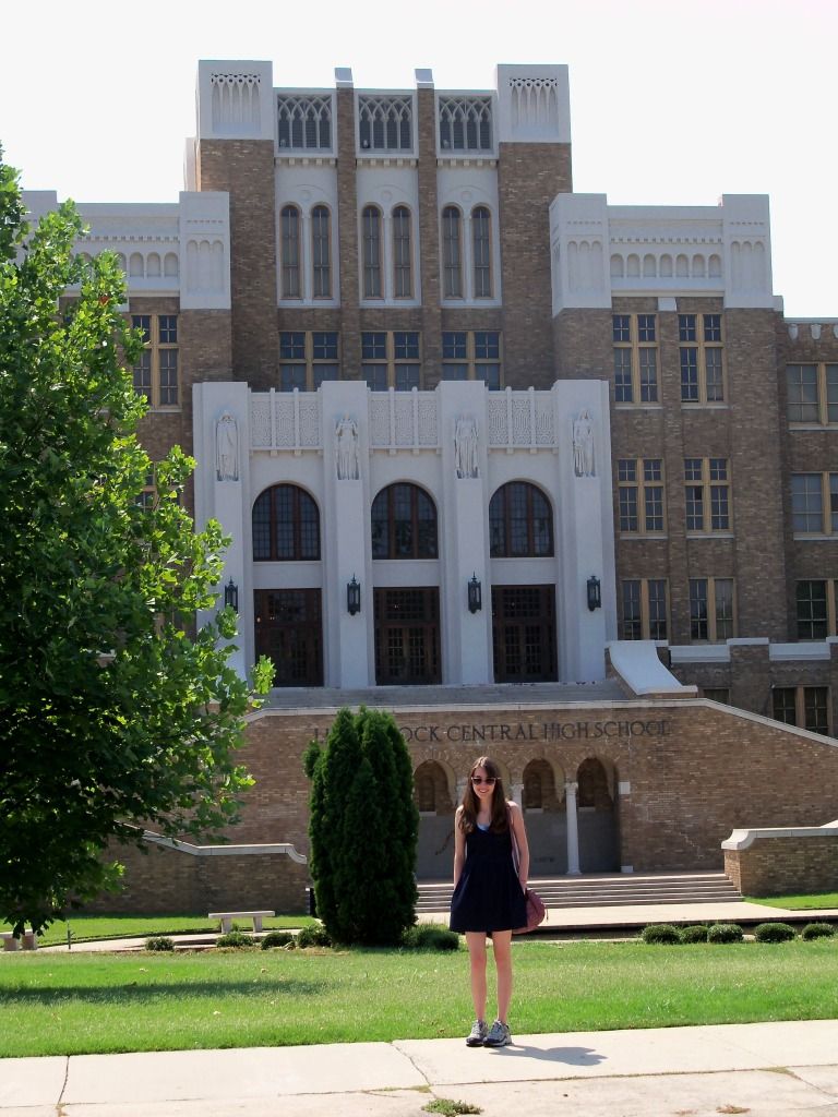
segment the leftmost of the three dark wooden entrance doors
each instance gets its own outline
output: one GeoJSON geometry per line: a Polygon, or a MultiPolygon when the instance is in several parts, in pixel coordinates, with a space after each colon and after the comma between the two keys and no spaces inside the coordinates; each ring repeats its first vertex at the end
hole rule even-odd
{"type": "Polygon", "coordinates": [[[323,686],[320,590],[256,590],[256,655],[274,661],[275,687],[323,686]]]}

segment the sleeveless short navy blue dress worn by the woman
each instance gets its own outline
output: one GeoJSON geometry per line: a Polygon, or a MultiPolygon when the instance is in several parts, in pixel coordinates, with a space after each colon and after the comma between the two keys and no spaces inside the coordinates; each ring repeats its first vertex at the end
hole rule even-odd
{"type": "Polygon", "coordinates": [[[514,930],[526,924],[524,891],[512,860],[512,834],[475,827],[451,897],[451,930],[514,930]]]}

